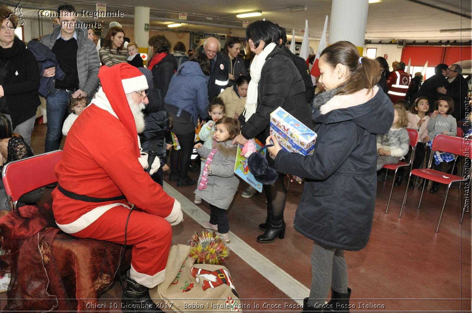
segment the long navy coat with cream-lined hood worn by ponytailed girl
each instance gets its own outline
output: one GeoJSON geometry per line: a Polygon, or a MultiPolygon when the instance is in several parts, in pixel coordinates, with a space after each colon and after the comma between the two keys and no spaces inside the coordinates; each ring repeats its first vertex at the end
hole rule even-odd
{"type": "Polygon", "coordinates": [[[378,86],[372,98],[365,91],[314,107],[319,124],[312,155],[282,150],[275,158],[277,172],[305,177],[295,230],[343,250],[360,250],[369,240],[377,191],[375,134],[386,133],[394,117],[392,102],[378,86]]]}

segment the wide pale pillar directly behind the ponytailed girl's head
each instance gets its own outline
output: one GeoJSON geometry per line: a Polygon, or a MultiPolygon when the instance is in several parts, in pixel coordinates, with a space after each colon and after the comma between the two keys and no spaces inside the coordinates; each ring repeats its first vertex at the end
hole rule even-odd
{"type": "Polygon", "coordinates": [[[351,41],[362,56],[369,0],[333,0],[329,22],[328,45],[351,41]]]}

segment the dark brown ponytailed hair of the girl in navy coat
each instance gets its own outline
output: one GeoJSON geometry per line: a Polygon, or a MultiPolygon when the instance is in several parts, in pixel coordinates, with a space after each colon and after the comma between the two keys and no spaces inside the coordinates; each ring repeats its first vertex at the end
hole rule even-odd
{"type": "Polygon", "coordinates": [[[359,50],[349,41],[337,41],[325,48],[320,55],[331,68],[337,64],[347,67],[349,77],[339,85],[337,95],[348,95],[362,89],[372,91],[380,80],[379,62],[375,59],[361,58],[359,50]]]}

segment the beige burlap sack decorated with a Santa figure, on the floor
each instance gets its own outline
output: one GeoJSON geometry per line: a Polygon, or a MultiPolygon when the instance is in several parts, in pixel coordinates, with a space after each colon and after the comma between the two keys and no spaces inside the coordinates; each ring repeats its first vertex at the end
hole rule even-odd
{"type": "Polygon", "coordinates": [[[166,312],[242,312],[226,267],[194,264],[190,246],[170,247],[166,278],[149,295],[166,312]]]}

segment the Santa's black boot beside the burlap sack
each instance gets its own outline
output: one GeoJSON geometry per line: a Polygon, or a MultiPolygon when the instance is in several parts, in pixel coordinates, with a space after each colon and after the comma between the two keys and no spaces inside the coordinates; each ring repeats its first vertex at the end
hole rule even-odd
{"type": "Polygon", "coordinates": [[[129,277],[126,278],[126,288],[121,296],[121,311],[123,312],[162,312],[149,296],[149,289],[138,284],[129,277]]]}

